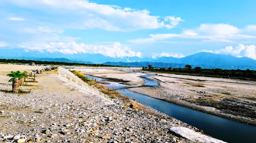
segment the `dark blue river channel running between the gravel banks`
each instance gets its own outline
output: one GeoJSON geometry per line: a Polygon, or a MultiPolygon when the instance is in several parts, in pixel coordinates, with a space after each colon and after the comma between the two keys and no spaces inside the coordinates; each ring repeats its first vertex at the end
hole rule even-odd
{"type": "MultiPolygon", "coordinates": [[[[96,79],[96,81],[105,81],[103,78],[93,77],[90,75],[85,75],[90,79],[96,79]]],[[[158,86],[157,81],[147,78],[148,76],[153,76],[153,74],[147,74],[140,76],[145,80],[144,85],[146,86],[158,86]]],[[[179,119],[189,125],[202,129],[205,134],[210,135],[216,139],[226,141],[229,143],[244,143],[244,142],[254,142],[256,137],[256,127],[251,125],[246,125],[244,123],[239,123],[229,119],[224,119],[207,113],[202,113],[200,111],[195,111],[188,109],[186,107],[181,107],[168,103],[159,99],[148,97],[140,93],[134,93],[126,89],[127,85],[120,84],[117,82],[106,81],[110,84],[105,85],[111,89],[114,89],[123,95],[136,99],[144,105],[148,105],[162,113],[165,113],[171,117],[179,119]]],[[[103,85],[103,84],[102,84],[103,85]]]]}

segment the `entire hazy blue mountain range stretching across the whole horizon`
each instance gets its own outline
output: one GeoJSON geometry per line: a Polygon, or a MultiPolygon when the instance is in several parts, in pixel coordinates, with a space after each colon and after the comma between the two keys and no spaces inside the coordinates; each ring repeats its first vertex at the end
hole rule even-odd
{"type": "Polygon", "coordinates": [[[200,52],[183,58],[174,57],[158,57],[158,58],[140,58],[140,57],[122,57],[112,58],[102,54],[54,54],[54,53],[38,53],[34,52],[33,57],[24,57],[26,52],[17,49],[18,54],[0,53],[0,58],[5,59],[24,59],[24,60],[40,60],[54,62],[69,63],[86,63],[86,64],[107,64],[114,66],[133,66],[147,67],[152,65],[155,68],[184,68],[186,64],[192,68],[199,66],[201,68],[221,68],[221,69],[240,69],[240,70],[256,70],[256,60],[247,57],[234,57],[231,55],[213,54],[208,52],[200,52]],[[54,58],[48,58],[54,57],[54,58]],[[65,58],[63,58],[65,57],[65,58]]]}

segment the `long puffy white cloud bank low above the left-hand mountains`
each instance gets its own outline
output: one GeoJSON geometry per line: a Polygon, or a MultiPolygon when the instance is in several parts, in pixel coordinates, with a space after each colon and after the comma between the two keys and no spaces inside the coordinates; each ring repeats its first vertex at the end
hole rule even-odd
{"type": "Polygon", "coordinates": [[[141,57],[141,52],[134,52],[128,47],[123,47],[119,42],[114,42],[112,45],[86,45],[84,43],[76,42],[51,42],[46,43],[23,43],[18,45],[24,50],[50,52],[50,53],[62,53],[62,54],[102,54],[112,58],[123,57],[141,57]]]}

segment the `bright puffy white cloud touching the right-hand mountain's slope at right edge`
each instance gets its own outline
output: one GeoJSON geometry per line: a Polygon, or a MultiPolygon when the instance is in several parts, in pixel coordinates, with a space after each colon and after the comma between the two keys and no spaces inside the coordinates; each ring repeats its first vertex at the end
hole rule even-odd
{"type": "Polygon", "coordinates": [[[215,54],[230,54],[236,57],[248,57],[256,60],[256,46],[239,44],[235,48],[232,46],[226,46],[220,50],[202,50],[202,52],[210,52],[215,54]]]}

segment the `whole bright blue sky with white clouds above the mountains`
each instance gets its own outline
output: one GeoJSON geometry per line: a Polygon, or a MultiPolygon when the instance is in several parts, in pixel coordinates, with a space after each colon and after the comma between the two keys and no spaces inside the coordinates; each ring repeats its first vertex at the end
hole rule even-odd
{"type": "Polygon", "coordinates": [[[254,0],[0,0],[0,49],[19,48],[27,57],[204,51],[256,60],[255,6],[254,0]]]}

